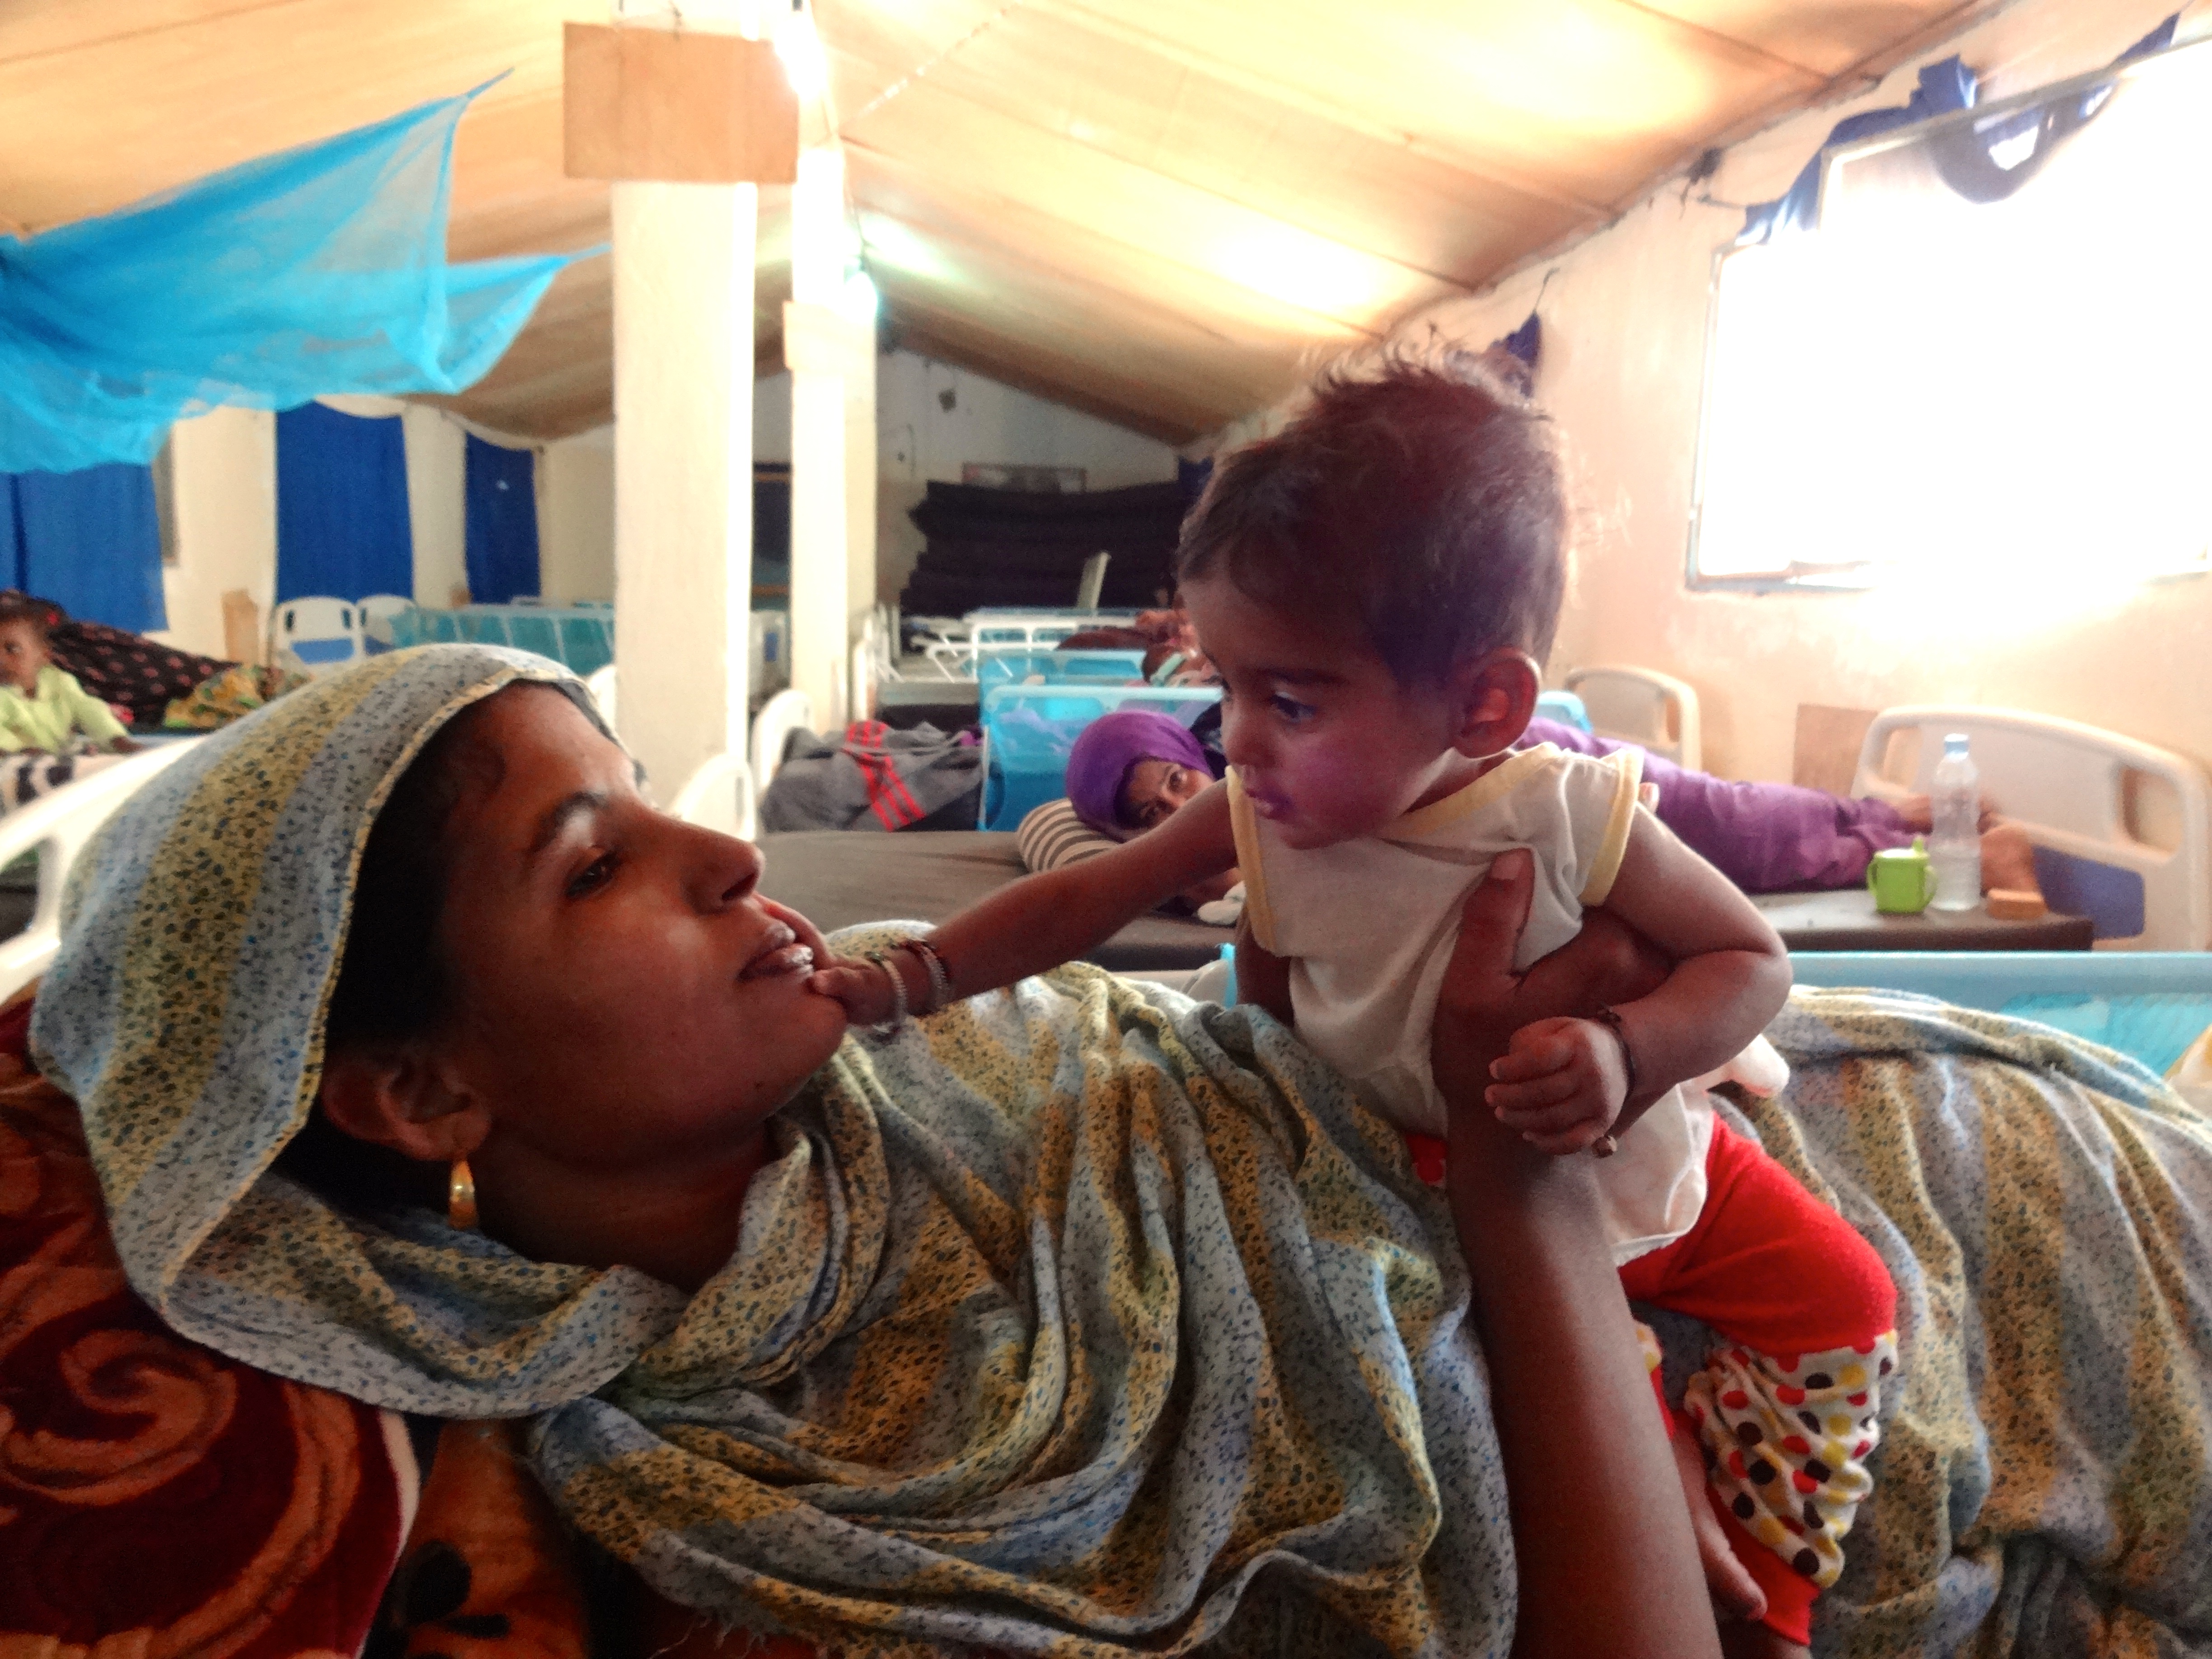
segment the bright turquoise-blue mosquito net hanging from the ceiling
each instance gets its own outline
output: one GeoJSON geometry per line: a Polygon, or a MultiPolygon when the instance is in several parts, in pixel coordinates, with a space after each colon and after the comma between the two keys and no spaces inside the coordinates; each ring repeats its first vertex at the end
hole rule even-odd
{"type": "Polygon", "coordinates": [[[0,237],[0,471],[146,462],[175,420],[226,403],[478,380],[588,254],[445,261],[473,97],[0,237]]]}

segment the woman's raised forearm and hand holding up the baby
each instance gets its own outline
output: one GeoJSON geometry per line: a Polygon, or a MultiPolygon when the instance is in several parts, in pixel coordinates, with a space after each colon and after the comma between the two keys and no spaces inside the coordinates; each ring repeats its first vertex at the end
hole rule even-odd
{"type": "Polygon", "coordinates": [[[1469,894],[1429,1048],[1513,1513],[1513,1650],[1710,1659],[1719,1632],[1606,1241],[1599,1166],[1546,1157],[1482,1102],[1515,1031],[1632,1000],[1666,962],[1593,914],[1582,938],[1513,973],[1531,887],[1528,854],[1509,852],[1469,894]]]}

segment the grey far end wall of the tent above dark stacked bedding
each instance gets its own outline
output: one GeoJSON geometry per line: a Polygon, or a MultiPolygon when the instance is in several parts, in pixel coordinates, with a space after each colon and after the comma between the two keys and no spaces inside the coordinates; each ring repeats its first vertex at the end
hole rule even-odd
{"type": "MultiPolygon", "coordinates": [[[[752,383],[752,458],[792,458],[792,376],[752,383]]],[[[907,513],[964,462],[1082,467],[1086,489],[1175,480],[1175,451],[1126,427],[1015,392],[949,363],[876,361],[876,597],[896,599],[922,553],[907,513]],[[951,394],[951,407],[945,407],[951,394]]]]}

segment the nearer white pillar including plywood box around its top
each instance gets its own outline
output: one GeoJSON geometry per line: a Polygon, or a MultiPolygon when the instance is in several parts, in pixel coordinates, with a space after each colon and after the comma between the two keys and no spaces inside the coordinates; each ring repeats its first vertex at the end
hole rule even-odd
{"type": "Polygon", "coordinates": [[[759,184],[799,148],[757,7],[684,11],[573,24],[564,86],[568,173],[615,179],[615,708],[659,801],[745,748],[759,184]]]}

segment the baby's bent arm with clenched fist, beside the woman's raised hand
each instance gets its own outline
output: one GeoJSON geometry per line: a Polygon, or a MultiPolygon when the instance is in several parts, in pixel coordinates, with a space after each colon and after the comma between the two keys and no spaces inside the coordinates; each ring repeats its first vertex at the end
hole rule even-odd
{"type": "Polygon", "coordinates": [[[1668,1088],[1734,1060],[1790,995],[1790,953],[1712,865],[1639,812],[1606,909],[1674,958],[1650,995],[1597,1020],[1540,1020],[1491,1066],[1491,1108],[1546,1152],[1619,1135],[1668,1088]],[[1635,1093],[1628,1057],[1635,1057],[1635,1093]]]}

